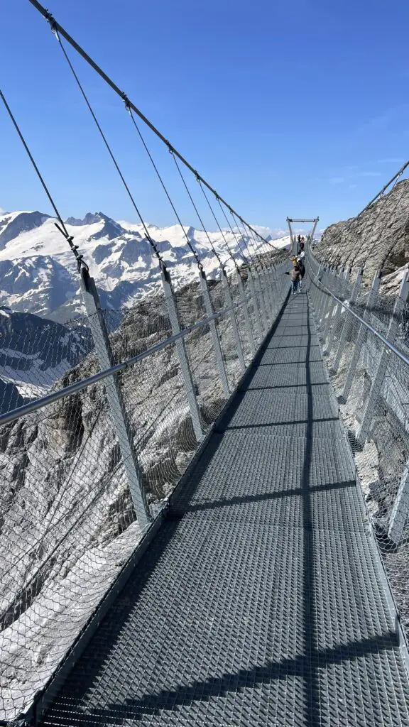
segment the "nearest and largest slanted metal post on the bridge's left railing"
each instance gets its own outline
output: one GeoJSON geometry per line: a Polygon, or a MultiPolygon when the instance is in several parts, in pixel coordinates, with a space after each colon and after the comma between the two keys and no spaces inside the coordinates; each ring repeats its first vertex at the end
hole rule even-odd
{"type": "MultiPolygon", "coordinates": [[[[87,314],[90,316],[89,323],[95,342],[95,351],[101,369],[109,369],[114,365],[114,356],[111,350],[106,323],[103,318],[103,311],[100,308],[100,300],[95,281],[86,268],[80,270],[80,276],[82,297],[87,314]]],[[[122,397],[122,390],[116,375],[106,379],[105,389],[111,409],[112,421],[118,437],[122,461],[124,462],[125,472],[127,473],[133,507],[140,528],[143,529],[151,522],[152,518],[149,512],[146,492],[140,484],[140,467],[133,446],[131,427],[122,397]]]]}

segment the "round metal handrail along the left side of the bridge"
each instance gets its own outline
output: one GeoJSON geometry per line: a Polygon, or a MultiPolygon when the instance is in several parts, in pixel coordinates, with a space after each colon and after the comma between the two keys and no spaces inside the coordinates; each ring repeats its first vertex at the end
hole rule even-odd
{"type": "Polygon", "coordinates": [[[225,316],[226,313],[229,313],[229,311],[234,310],[235,308],[239,308],[241,305],[243,305],[243,301],[234,303],[233,305],[229,305],[228,308],[223,308],[222,310],[219,310],[218,313],[213,313],[213,316],[208,316],[207,318],[204,318],[203,321],[199,321],[199,323],[195,323],[195,324],[192,324],[191,326],[188,326],[188,328],[183,329],[183,331],[180,331],[179,333],[174,334],[174,335],[170,336],[169,338],[166,338],[164,341],[161,341],[160,343],[156,343],[156,345],[151,346],[150,348],[147,348],[142,353],[138,353],[136,356],[132,356],[132,358],[127,358],[127,361],[122,361],[122,364],[116,364],[116,366],[111,366],[111,368],[109,368],[109,369],[104,369],[103,371],[98,371],[98,374],[94,374],[93,376],[90,376],[87,379],[82,379],[82,381],[78,381],[75,384],[66,386],[63,389],[60,389],[58,391],[53,391],[52,393],[47,394],[46,396],[41,396],[41,398],[35,399],[34,401],[30,401],[27,404],[23,404],[23,406],[19,406],[17,409],[12,409],[12,411],[7,411],[6,414],[0,414],[0,426],[4,425],[4,424],[9,424],[10,422],[14,422],[15,419],[20,419],[20,417],[25,417],[27,414],[31,414],[33,411],[42,409],[42,407],[47,406],[47,404],[51,404],[51,403],[54,403],[55,401],[59,401],[60,399],[64,398],[65,396],[69,396],[71,394],[78,393],[79,391],[86,389],[87,386],[95,384],[98,381],[102,381],[103,379],[106,379],[106,378],[108,378],[108,376],[112,376],[113,374],[118,374],[119,371],[124,371],[125,369],[128,369],[129,366],[133,366],[134,364],[137,364],[138,361],[142,361],[143,358],[146,358],[147,356],[151,356],[151,353],[156,353],[156,351],[159,351],[162,348],[169,346],[171,343],[175,342],[179,338],[186,337],[192,331],[195,331],[196,329],[199,329],[202,326],[207,326],[207,324],[209,324],[210,321],[215,320],[215,318],[221,318],[221,316],[225,316]]]}

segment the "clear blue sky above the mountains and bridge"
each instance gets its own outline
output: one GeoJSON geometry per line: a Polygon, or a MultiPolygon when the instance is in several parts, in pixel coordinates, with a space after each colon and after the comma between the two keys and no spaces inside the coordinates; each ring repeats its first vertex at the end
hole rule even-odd
{"type": "MultiPolygon", "coordinates": [[[[323,228],[359,212],[408,157],[405,0],[46,4],[249,222],[283,228],[287,214],[319,214],[323,228]]],[[[122,102],[70,54],[143,216],[172,224],[122,102]]],[[[57,41],[28,0],[2,4],[0,67],[62,214],[136,220],[57,41]]],[[[151,132],[146,140],[183,222],[196,225],[169,153],[151,132]]],[[[0,207],[49,212],[2,106],[0,153],[0,207]]]]}

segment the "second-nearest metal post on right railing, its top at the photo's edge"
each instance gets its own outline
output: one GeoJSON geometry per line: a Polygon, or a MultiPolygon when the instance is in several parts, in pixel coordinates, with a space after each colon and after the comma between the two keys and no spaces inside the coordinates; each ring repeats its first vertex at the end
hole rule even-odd
{"type": "MultiPolygon", "coordinates": [[[[405,305],[406,300],[408,299],[409,294],[409,273],[405,273],[405,277],[402,280],[402,283],[400,284],[400,291],[399,295],[395,301],[394,304],[394,310],[391,316],[391,319],[389,321],[389,327],[388,332],[386,334],[386,338],[394,343],[394,340],[396,339],[397,331],[399,328],[400,323],[400,313],[402,313],[402,309],[405,305]]],[[[384,348],[380,361],[378,363],[378,368],[376,369],[376,374],[373,377],[372,385],[370,387],[370,392],[368,395],[368,401],[365,406],[365,412],[362,417],[360,428],[357,432],[357,440],[360,442],[361,445],[365,444],[366,438],[368,437],[368,433],[370,430],[370,422],[372,421],[373,417],[373,410],[376,405],[376,401],[378,399],[378,396],[381,393],[381,387],[382,383],[384,381],[384,376],[386,373],[386,369],[388,366],[389,361],[389,350],[384,348]]]]}

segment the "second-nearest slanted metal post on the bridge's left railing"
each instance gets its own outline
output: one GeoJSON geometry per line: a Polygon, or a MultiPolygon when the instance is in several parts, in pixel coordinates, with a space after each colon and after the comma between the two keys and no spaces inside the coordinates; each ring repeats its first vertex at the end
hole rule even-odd
{"type": "MultiPolygon", "coordinates": [[[[180,333],[180,323],[178,316],[178,309],[176,308],[175,294],[172,288],[172,281],[167,268],[162,267],[162,286],[164,292],[164,299],[166,300],[167,313],[170,318],[170,326],[172,327],[172,334],[180,333]]],[[[178,338],[175,341],[176,351],[178,352],[180,373],[183,377],[183,383],[185,385],[186,398],[188,400],[188,407],[191,414],[191,422],[194,429],[194,434],[198,442],[203,439],[202,424],[200,421],[200,410],[197,403],[196,395],[194,393],[194,383],[191,378],[191,371],[188,364],[188,356],[186,353],[186,343],[183,338],[178,338]]]]}

